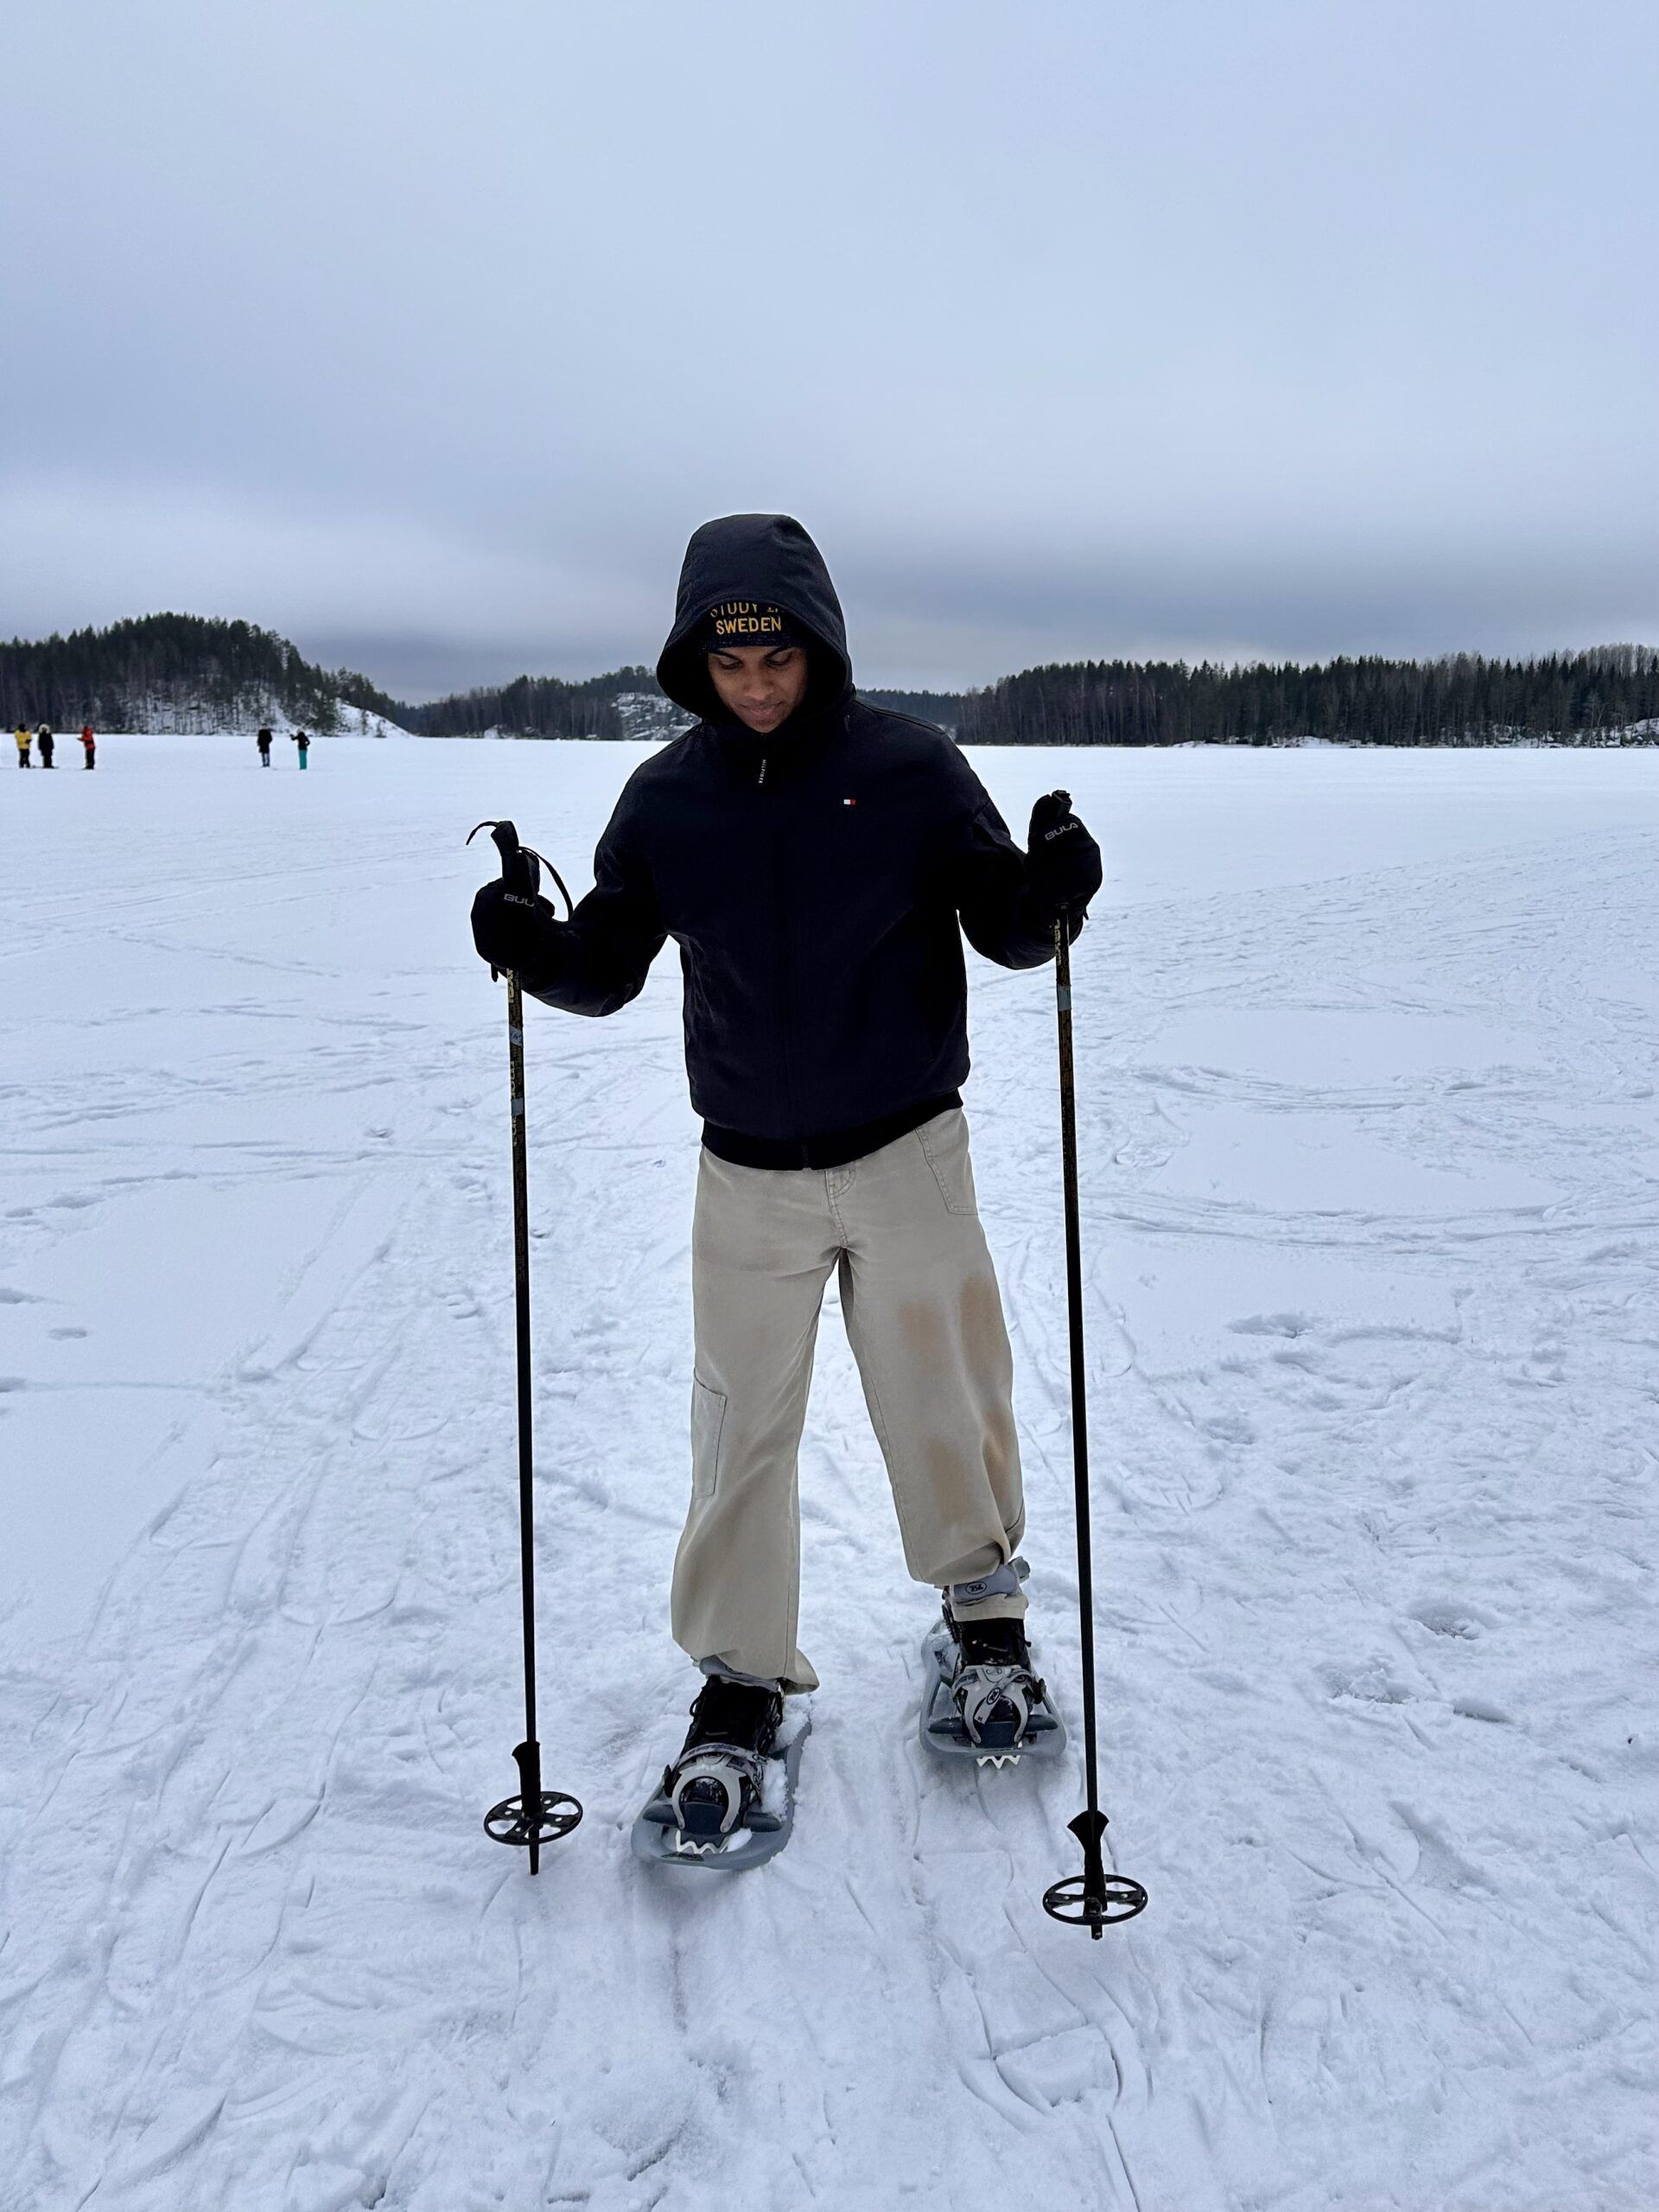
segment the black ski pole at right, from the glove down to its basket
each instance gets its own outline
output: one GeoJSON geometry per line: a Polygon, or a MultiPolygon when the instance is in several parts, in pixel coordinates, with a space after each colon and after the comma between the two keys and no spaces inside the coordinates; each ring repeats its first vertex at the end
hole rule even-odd
{"type": "Polygon", "coordinates": [[[1086,1927],[1099,1942],[1117,1920],[1146,1911],[1146,1891],[1126,1874],[1108,1874],[1102,1856],[1106,1814],[1099,1809],[1095,1750],[1095,1566],[1088,1542],[1088,1398],[1084,1383],[1084,1259],[1077,1225],[1077,1079],[1071,1060],[1071,916],[1055,922],[1055,1009],[1060,1013],[1060,1159],[1066,1181],[1066,1321],[1071,1325],[1071,1464],[1077,1493],[1077,1628],[1084,1668],[1084,1783],[1088,1803],[1066,1827],[1084,1847],[1084,1871],[1053,1882],[1042,1909],[1053,1920],[1086,1927]]]}

